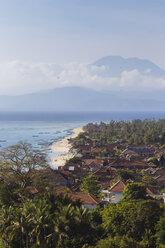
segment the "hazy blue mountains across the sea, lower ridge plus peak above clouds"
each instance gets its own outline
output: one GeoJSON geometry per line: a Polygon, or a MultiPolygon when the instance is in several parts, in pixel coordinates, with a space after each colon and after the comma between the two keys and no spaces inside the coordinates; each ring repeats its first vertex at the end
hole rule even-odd
{"type": "MultiPolygon", "coordinates": [[[[153,77],[165,77],[165,70],[148,60],[104,57],[93,65],[104,66],[102,76],[119,76],[137,69],[153,77]]],[[[117,111],[165,110],[165,92],[103,92],[82,87],[56,88],[20,96],[0,96],[0,111],[117,111]]]]}

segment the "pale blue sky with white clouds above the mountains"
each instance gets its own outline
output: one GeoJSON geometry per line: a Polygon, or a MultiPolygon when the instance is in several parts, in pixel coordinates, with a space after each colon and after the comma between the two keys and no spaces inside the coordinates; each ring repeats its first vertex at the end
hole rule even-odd
{"type": "MultiPolygon", "coordinates": [[[[102,79],[87,64],[108,55],[149,59],[165,69],[164,11],[164,0],[0,0],[0,94],[79,79],[95,88],[102,79]]],[[[113,79],[107,80],[103,88],[111,89],[113,79]]]]}

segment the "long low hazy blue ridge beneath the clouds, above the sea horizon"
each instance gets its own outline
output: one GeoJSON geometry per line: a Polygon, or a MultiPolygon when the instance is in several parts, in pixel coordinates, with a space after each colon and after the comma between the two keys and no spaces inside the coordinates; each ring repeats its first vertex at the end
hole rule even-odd
{"type": "Polygon", "coordinates": [[[0,96],[0,111],[121,111],[165,110],[165,101],[125,98],[82,87],[57,88],[21,96],[0,96]]]}

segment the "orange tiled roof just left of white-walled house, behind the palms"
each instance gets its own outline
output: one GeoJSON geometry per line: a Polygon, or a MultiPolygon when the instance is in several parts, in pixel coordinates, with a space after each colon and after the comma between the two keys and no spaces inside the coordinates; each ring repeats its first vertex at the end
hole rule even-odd
{"type": "Polygon", "coordinates": [[[73,201],[79,200],[89,210],[94,209],[100,203],[100,199],[90,194],[75,192],[68,195],[73,201]]]}

